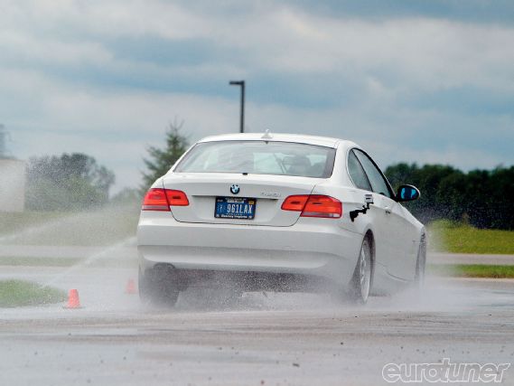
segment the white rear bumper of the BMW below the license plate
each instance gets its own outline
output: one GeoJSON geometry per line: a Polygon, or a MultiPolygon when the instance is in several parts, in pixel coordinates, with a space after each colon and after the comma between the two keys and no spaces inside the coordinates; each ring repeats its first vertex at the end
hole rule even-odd
{"type": "Polygon", "coordinates": [[[308,218],[290,227],[186,223],[175,221],[169,212],[142,212],[137,229],[139,266],[145,271],[170,264],[195,277],[216,271],[245,278],[305,277],[346,284],[357,264],[362,236],[337,223],[308,218]]]}

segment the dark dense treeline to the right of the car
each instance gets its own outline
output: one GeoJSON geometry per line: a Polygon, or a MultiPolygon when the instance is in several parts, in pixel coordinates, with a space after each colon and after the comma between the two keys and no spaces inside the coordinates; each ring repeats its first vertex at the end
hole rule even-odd
{"type": "Polygon", "coordinates": [[[420,221],[469,222],[477,228],[514,230],[514,166],[468,173],[449,165],[391,165],[393,188],[413,184],[421,198],[406,206],[420,221]]]}

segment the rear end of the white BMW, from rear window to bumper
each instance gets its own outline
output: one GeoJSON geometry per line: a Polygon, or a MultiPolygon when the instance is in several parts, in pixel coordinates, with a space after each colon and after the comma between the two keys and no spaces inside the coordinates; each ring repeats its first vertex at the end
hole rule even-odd
{"type": "Polygon", "coordinates": [[[145,196],[141,272],[172,269],[182,288],[215,278],[245,290],[350,281],[360,237],[341,226],[332,146],[237,136],[193,146],[145,196]]]}

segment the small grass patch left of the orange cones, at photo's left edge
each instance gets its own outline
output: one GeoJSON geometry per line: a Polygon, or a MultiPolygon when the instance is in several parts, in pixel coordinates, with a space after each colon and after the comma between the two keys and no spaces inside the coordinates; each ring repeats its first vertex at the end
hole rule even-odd
{"type": "Polygon", "coordinates": [[[0,281],[0,307],[39,306],[61,303],[66,292],[24,280],[0,281]]]}

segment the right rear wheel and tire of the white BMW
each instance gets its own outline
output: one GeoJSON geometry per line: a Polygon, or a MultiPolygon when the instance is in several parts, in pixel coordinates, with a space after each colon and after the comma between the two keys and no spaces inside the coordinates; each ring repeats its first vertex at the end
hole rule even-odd
{"type": "Polygon", "coordinates": [[[371,291],[372,267],[371,240],[365,237],[360,247],[359,259],[350,281],[350,299],[360,305],[366,304],[371,291]]]}

